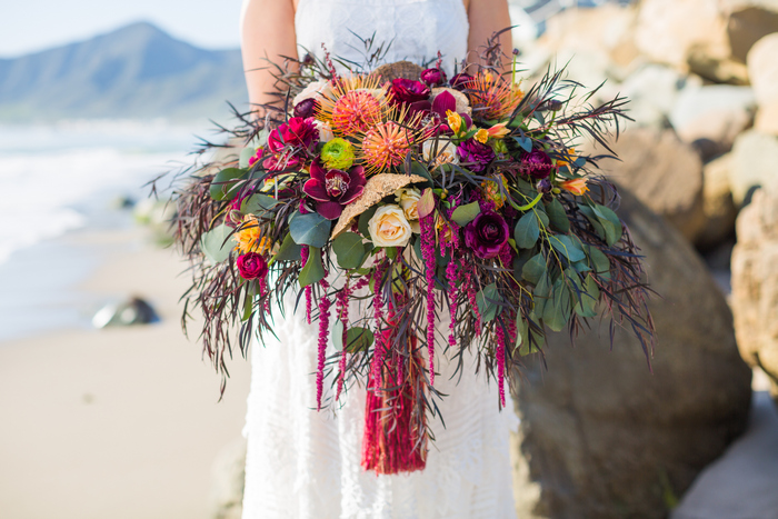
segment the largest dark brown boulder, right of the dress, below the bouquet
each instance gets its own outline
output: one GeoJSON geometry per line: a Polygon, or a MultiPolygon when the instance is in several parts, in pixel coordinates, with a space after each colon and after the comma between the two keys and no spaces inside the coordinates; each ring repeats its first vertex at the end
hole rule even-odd
{"type": "Polygon", "coordinates": [[[621,218],[646,254],[657,347],[646,366],[631,331],[606,323],[550,338],[529,359],[516,409],[521,518],[664,518],[744,430],[751,371],[731,313],[684,238],[624,192],[621,218]],[[543,369],[543,362],[548,369],[543,369]]]}

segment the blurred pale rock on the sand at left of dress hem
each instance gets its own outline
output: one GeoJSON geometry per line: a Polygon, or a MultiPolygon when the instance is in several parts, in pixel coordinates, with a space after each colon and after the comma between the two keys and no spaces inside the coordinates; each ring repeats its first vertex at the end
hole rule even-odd
{"type": "Polygon", "coordinates": [[[240,519],[243,512],[246,482],[246,440],[226,446],[213,461],[211,476],[210,517],[240,519]]]}

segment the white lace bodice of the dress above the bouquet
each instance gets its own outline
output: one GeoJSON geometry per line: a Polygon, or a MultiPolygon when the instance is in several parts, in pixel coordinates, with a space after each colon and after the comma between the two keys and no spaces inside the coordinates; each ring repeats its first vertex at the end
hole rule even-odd
{"type": "Polygon", "coordinates": [[[386,62],[423,64],[440,51],[451,73],[466,58],[469,24],[461,0],[300,0],[295,29],[300,57],[323,57],[323,42],[333,57],[362,64],[359,38],[375,33],[377,46],[391,42],[386,62]]]}

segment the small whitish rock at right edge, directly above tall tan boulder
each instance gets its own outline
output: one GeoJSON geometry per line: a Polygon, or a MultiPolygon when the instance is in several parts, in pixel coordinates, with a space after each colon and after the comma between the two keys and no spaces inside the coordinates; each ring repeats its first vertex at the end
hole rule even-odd
{"type": "Polygon", "coordinates": [[[748,130],[738,136],[732,147],[732,166],[729,170],[729,184],[736,206],[742,206],[756,188],[776,181],[776,136],[756,130],[748,130]]]}

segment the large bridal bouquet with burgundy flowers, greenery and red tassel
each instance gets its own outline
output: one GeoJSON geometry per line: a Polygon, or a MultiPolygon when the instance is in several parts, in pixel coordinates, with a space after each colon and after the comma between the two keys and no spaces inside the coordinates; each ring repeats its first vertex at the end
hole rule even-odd
{"type": "Polygon", "coordinates": [[[592,106],[561,71],[525,87],[498,54],[450,78],[439,62],[345,74],[308,56],[279,69],[265,119],[230,130],[240,159],[199,164],[173,197],[193,272],[184,325],[199,307],[217,368],[237,323],[245,352],[296,296],[319,330],[317,405],[368,388],[362,463],[380,473],[423,468],[441,352],[477,351],[505,406],[507,375],[542,355],[546,330],[608,315],[651,347],[617,192],[596,174],[601,157],[577,151],[607,148],[626,100],[592,106]]]}

